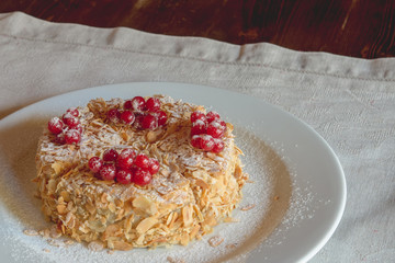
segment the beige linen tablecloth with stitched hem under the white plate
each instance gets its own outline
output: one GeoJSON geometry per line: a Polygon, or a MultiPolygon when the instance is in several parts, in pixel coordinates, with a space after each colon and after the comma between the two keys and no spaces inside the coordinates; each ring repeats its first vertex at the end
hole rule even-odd
{"type": "Polygon", "coordinates": [[[332,147],[348,183],[343,218],[311,262],[395,262],[394,58],[354,59],[0,14],[0,118],[68,91],[134,81],[233,90],[305,121],[332,147]]]}

